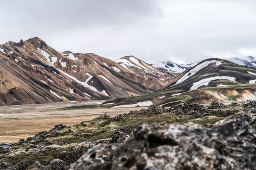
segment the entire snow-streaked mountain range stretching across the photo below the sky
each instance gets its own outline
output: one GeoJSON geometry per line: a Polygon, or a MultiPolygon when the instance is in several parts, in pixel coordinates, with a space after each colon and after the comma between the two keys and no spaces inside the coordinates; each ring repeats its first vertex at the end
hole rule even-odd
{"type": "Polygon", "coordinates": [[[180,101],[256,100],[256,60],[207,59],[148,64],[93,53],[58,52],[38,37],[0,46],[0,105],[110,100],[112,107],[180,101]]]}

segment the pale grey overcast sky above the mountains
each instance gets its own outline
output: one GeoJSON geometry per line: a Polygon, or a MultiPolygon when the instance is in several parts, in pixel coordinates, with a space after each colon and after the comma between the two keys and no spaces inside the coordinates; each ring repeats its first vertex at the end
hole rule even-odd
{"type": "Polygon", "coordinates": [[[148,63],[256,57],[255,0],[0,0],[0,44],[31,37],[59,52],[148,63]]]}

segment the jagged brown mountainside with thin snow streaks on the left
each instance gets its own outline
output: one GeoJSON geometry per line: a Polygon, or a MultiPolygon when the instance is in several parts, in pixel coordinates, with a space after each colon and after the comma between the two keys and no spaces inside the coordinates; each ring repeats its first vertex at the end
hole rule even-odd
{"type": "Polygon", "coordinates": [[[151,69],[124,68],[92,53],[60,53],[38,37],[9,41],[0,46],[0,105],[126,98],[154,92],[176,76],[151,69]]]}

